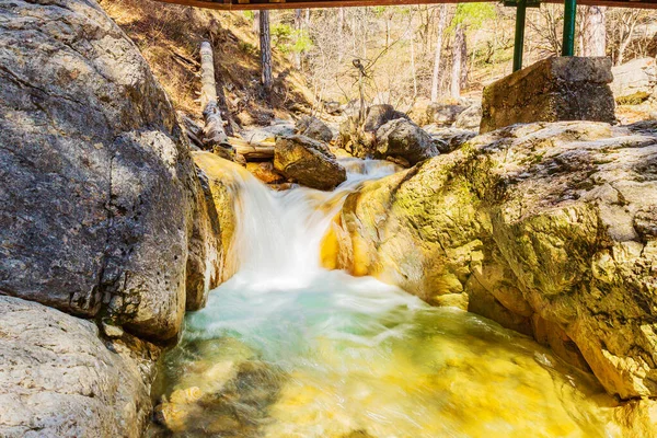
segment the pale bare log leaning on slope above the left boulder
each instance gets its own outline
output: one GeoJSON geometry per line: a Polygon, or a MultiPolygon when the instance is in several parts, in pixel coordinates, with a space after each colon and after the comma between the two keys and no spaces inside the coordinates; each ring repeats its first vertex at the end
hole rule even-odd
{"type": "Polygon", "coordinates": [[[221,146],[232,149],[228,145],[228,137],[223,130],[223,120],[217,103],[217,82],[215,80],[215,59],[212,46],[208,42],[200,44],[200,108],[205,119],[201,142],[207,149],[221,146]]]}

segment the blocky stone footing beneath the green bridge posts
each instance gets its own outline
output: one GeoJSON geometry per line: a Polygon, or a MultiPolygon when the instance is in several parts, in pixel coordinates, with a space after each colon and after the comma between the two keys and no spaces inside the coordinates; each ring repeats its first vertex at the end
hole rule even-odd
{"type": "Polygon", "coordinates": [[[612,79],[609,58],[543,59],[484,89],[480,130],[533,122],[614,123],[612,79]]]}

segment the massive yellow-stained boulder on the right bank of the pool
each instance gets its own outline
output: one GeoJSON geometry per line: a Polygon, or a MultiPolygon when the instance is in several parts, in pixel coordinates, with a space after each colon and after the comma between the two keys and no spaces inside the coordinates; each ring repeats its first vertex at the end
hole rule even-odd
{"type": "Polygon", "coordinates": [[[657,136],[518,125],[346,199],[327,267],[533,335],[621,399],[657,396],[657,136]]]}

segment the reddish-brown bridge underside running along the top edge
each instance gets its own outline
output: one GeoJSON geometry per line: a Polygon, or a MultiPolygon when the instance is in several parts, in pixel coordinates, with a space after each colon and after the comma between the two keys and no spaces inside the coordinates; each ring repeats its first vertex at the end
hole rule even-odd
{"type": "MultiPolygon", "coordinates": [[[[210,8],[226,11],[261,10],[261,9],[304,9],[304,8],[348,8],[374,7],[394,4],[436,4],[436,3],[464,3],[491,2],[499,0],[158,0],[166,3],[184,4],[198,8],[210,8]]],[[[563,3],[563,0],[543,0],[546,3],[563,3]]],[[[621,7],[621,8],[648,8],[657,9],[657,0],[579,0],[578,4],[621,7]]]]}

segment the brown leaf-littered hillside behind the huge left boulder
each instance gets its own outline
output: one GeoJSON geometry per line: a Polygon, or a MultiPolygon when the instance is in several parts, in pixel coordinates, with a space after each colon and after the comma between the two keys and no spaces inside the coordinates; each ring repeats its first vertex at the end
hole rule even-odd
{"type": "Polygon", "coordinates": [[[232,118],[265,123],[308,106],[312,93],[287,59],[274,51],[274,92],[265,101],[260,87],[257,36],[241,13],[158,3],[152,0],[101,0],[101,7],[137,44],[176,110],[200,117],[197,97],[198,49],[209,39],[216,70],[232,118]]]}

